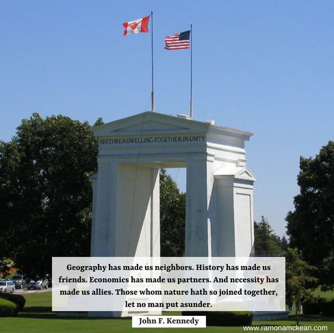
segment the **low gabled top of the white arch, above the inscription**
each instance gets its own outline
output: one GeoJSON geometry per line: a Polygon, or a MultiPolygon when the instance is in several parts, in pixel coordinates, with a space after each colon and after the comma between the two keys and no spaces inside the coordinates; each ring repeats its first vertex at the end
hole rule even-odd
{"type": "MultiPolygon", "coordinates": [[[[222,125],[211,124],[209,122],[196,121],[190,118],[185,118],[183,116],[172,116],[169,114],[162,114],[158,112],[146,111],[139,114],[134,114],[133,116],[127,116],[116,121],[111,121],[110,123],[105,123],[103,125],[97,125],[92,127],[92,132],[96,136],[106,136],[118,134],[129,134],[131,132],[153,132],[149,128],[140,128],[140,125],[145,123],[159,124],[161,130],[164,130],[162,125],[167,125],[166,130],[195,130],[204,132],[214,132],[216,134],[227,135],[227,134],[237,134],[238,136],[244,136],[249,139],[253,136],[252,132],[246,132],[244,130],[237,130],[235,128],[226,127],[222,125]],[[169,126],[169,127],[168,127],[169,126]],[[107,133],[106,130],[109,130],[107,133]]],[[[160,131],[159,127],[156,129],[157,132],[160,131]]]]}

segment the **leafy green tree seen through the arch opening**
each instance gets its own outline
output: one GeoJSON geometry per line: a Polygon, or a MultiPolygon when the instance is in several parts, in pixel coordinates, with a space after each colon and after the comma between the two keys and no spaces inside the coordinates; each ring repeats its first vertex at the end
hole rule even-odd
{"type": "Polygon", "coordinates": [[[165,169],[160,170],[161,256],[183,256],[185,240],[185,193],[165,169]]]}

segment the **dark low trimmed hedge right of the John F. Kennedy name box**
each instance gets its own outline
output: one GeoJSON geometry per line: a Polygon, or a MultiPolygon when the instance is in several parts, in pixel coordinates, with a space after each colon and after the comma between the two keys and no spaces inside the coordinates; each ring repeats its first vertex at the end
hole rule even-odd
{"type": "Polygon", "coordinates": [[[183,311],[183,316],[205,316],[208,326],[251,325],[253,313],[248,311],[183,311]]]}

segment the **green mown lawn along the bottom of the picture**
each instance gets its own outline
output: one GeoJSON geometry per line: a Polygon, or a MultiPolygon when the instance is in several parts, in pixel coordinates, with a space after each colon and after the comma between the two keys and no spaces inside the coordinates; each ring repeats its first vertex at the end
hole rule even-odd
{"type": "MultiPolygon", "coordinates": [[[[25,295],[27,303],[24,311],[17,317],[0,318],[1,332],[157,332],[157,328],[131,328],[131,319],[69,319],[58,318],[51,311],[51,293],[29,293],[25,295]]],[[[179,314],[164,312],[166,315],[179,314]]],[[[327,332],[334,332],[334,318],[322,319],[313,316],[303,318],[301,325],[327,325],[327,332]]],[[[291,318],[287,321],[257,321],[253,325],[294,325],[291,318]]],[[[207,327],[196,330],[177,328],[177,332],[244,332],[241,327],[207,327]]],[[[159,328],[159,332],[171,332],[170,328],[159,328]]]]}

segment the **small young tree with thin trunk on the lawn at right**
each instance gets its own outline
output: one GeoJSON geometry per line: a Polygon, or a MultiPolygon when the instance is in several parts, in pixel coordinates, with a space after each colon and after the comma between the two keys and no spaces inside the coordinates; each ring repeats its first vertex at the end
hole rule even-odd
{"type": "Polygon", "coordinates": [[[296,323],[299,324],[298,310],[301,301],[311,297],[310,287],[314,287],[317,279],[311,276],[316,271],[302,259],[302,251],[287,248],[285,251],[285,290],[287,299],[290,299],[296,307],[296,323]]]}

